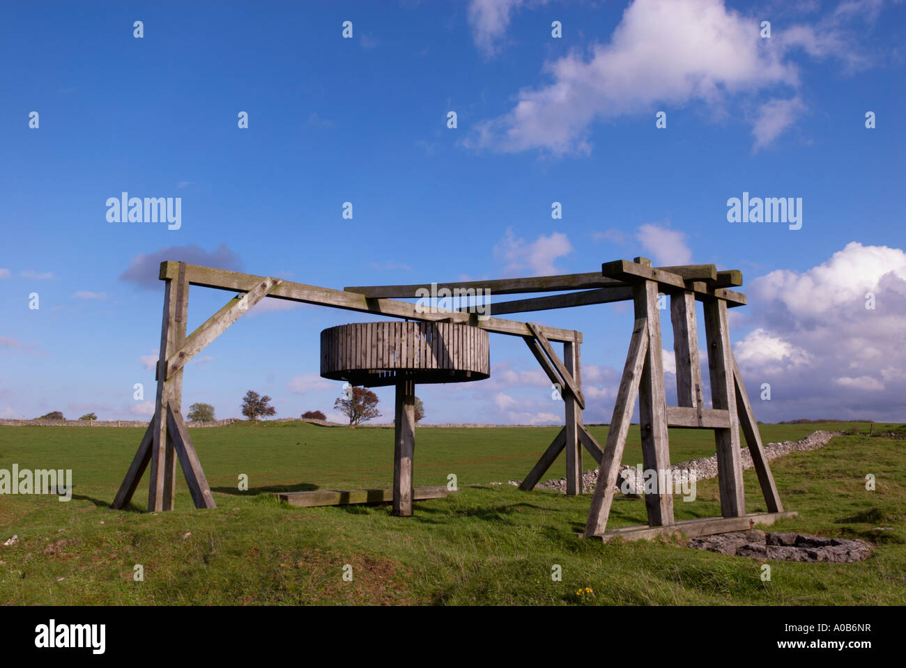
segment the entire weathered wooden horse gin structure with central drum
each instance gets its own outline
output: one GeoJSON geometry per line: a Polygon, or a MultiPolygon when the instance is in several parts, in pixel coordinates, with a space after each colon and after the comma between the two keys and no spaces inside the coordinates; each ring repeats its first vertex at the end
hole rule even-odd
{"type": "Polygon", "coordinates": [[[454,289],[485,290],[496,295],[561,292],[496,302],[489,307],[490,315],[632,301],[635,322],[629,354],[603,448],[583,426],[581,332],[531,322],[479,318],[476,313],[469,312],[471,307],[425,312],[408,301],[399,301],[419,297],[419,291],[429,289],[423,284],[352,287],[338,291],[185,262],[162,262],[160,279],[165,282],[164,317],[155,414],[113,501],[114,508],[122,508],[130,502],[150,463],[148,509],[172,510],[177,457],[196,507],[216,507],[181,415],[183,367],[246,310],[265,297],[272,297],[406,320],[334,327],[325,329],[321,338],[323,377],[346,380],[351,385],[396,386],[392,500],[393,511],[398,515],[412,512],[415,384],[487,378],[490,373],[488,332],[524,339],[547,376],[563,388],[564,428],[520,489],[532,490],[564,451],[567,494],[582,493],[583,448],[600,465],[584,531],[586,537],[605,540],[614,536],[650,538],[678,530],[688,535],[706,535],[748,529],[755,524],[769,524],[780,517],[795,515],[795,512],[784,511],[777,495],[757,423],[730,347],[728,308],[746,304],[746,296],[732,290],[742,284],[740,272],[718,272],[713,264],[651,267],[651,261],[635,258],[633,262],[607,262],[602,265],[601,272],[434,285],[438,293],[446,288],[450,291],[448,294],[454,289]],[[187,336],[189,285],[241,294],[187,336]],[[678,406],[667,406],[664,388],[658,309],[661,292],[670,297],[678,406]],[[711,408],[704,407],[702,397],[696,301],[703,303],[705,314],[711,408]],[[563,344],[563,358],[557,355],[553,343],[563,344]],[[658,489],[645,494],[648,526],[606,530],[636,397],[639,399],[643,463],[646,469],[659,472],[659,480],[663,479],[660,473],[670,470],[668,427],[714,431],[722,517],[677,522],[673,518],[670,491],[658,489]],[[767,512],[746,512],[740,427],[755,463],[767,512]]]}

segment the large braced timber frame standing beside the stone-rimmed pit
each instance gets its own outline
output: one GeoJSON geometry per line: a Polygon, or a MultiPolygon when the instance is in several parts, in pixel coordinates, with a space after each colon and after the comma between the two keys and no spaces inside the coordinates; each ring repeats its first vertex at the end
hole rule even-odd
{"type": "Polygon", "coordinates": [[[748,528],[757,523],[770,523],[786,513],[777,494],[774,478],[746,388],[742,384],[733,350],[730,347],[727,322],[727,302],[710,295],[702,297],[693,290],[674,290],[670,293],[670,320],[673,325],[673,345],[676,357],[677,403],[667,406],[664,371],[661,359],[660,312],[658,309],[658,272],[646,269],[651,262],[636,258],[628,262],[611,262],[603,266],[604,275],[632,282],[635,323],[629,354],[623,367],[620,388],[607,442],[604,445],[598,482],[585,525],[586,537],[610,539],[651,538],[659,532],[681,529],[687,534],[704,535],[724,530],[748,528]],[[648,272],[651,272],[648,274],[648,272]],[[647,275],[646,275],[647,274],[647,275]],[[633,278],[634,277],[634,278],[633,278]],[[699,362],[698,327],[695,301],[704,302],[705,335],[708,344],[708,371],[711,380],[712,408],[702,406],[701,366],[699,362]],[[639,397],[642,460],[646,470],[670,470],[669,426],[713,429],[718,453],[718,484],[722,518],[694,520],[677,524],[673,518],[670,491],[645,494],[648,527],[633,527],[606,532],[623,448],[635,405],[639,397]],[[767,513],[746,513],[743,489],[739,427],[746,437],[749,452],[765,496],[767,513]]]}

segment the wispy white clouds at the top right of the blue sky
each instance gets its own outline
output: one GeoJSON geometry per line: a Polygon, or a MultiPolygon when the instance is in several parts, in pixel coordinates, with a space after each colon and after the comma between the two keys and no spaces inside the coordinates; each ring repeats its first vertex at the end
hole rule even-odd
{"type": "MultiPolygon", "coordinates": [[[[473,3],[479,48],[493,51],[519,4],[473,3]]],[[[519,91],[512,110],[479,122],[465,144],[582,154],[591,151],[588,133],[595,121],[689,103],[722,116],[732,103],[753,123],[756,148],[763,148],[805,111],[792,52],[850,65],[869,62],[855,47],[853,17],[870,13],[850,5],[859,3],[844,2],[815,24],[785,31],[777,26],[771,39],[762,39],[760,19],[728,9],[723,0],[635,0],[608,43],[594,44],[587,57],[571,52],[545,63],[551,81],[519,91]],[[778,98],[776,91],[784,88],[794,95],[778,98]]]]}

